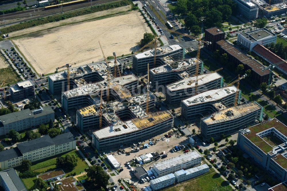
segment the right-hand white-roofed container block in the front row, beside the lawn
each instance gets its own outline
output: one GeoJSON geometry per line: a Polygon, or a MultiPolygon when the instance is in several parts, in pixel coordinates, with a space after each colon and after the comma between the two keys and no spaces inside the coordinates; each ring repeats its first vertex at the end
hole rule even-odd
{"type": "Polygon", "coordinates": [[[185,180],[189,180],[191,178],[195,178],[201,174],[204,174],[209,171],[209,166],[207,164],[203,164],[197,167],[193,167],[190,169],[182,169],[179,171],[176,171],[174,173],[174,176],[176,178],[177,182],[183,182],[185,180]]]}

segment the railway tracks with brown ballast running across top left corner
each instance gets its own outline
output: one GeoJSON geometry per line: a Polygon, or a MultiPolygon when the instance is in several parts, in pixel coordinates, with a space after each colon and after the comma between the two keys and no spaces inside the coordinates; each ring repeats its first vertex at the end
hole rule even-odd
{"type": "Polygon", "coordinates": [[[92,1],[92,4],[91,4],[91,2],[87,2],[87,3],[76,4],[76,5],[70,5],[70,6],[66,6],[66,7],[59,6],[59,8],[56,8],[56,9],[45,10],[44,8],[40,8],[40,9],[22,11],[19,13],[9,13],[9,14],[4,15],[4,17],[1,16],[0,20],[2,20],[3,18],[5,18],[5,21],[14,20],[14,19],[19,19],[19,20],[12,21],[12,22],[6,22],[6,24],[5,23],[0,24],[0,27],[3,27],[5,25],[8,26],[8,25],[17,24],[20,22],[33,20],[33,19],[37,19],[40,17],[46,17],[46,16],[50,16],[50,15],[59,14],[59,13],[62,13],[62,11],[67,12],[67,11],[72,11],[72,10],[76,10],[76,9],[91,7],[91,6],[102,4],[102,3],[108,3],[108,2],[112,2],[112,1],[117,1],[117,0],[97,0],[97,1],[92,1]]]}

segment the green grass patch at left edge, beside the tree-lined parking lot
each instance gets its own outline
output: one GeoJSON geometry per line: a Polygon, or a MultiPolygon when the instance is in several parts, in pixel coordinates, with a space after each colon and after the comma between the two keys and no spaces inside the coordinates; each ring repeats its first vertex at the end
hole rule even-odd
{"type": "Polygon", "coordinates": [[[2,68],[0,69],[0,85],[5,80],[5,85],[12,85],[17,83],[18,81],[22,81],[18,74],[12,67],[2,68]]]}

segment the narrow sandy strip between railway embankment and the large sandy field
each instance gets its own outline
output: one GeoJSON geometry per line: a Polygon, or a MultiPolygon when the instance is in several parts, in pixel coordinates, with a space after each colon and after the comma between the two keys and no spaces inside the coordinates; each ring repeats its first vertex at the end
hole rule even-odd
{"type": "Polygon", "coordinates": [[[96,13],[91,13],[91,14],[87,14],[87,15],[82,15],[82,16],[78,16],[78,17],[72,17],[69,19],[65,19],[65,20],[61,20],[59,22],[53,22],[53,23],[47,23],[44,25],[40,25],[40,26],[36,26],[36,27],[32,27],[32,28],[27,28],[27,29],[23,29],[23,30],[19,30],[19,31],[15,31],[15,32],[11,32],[9,33],[9,37],[15,37],[15,36],[21,36],[24,34],[29,34],[32,32],[37,32],[37,31],[41,31],[41,30],[46,30],[49,28],[54,28],[54,27],[58,27],[58,26],[63,26],[66,24],[73,24],[75,22],[81,22],[84,20],[91,20],[97,17],[102,17],[104,15],[108,15],[108,14],[115,14],[115,13],[119,13],[121,11],[127,11],[131,9],[130,5],[127,5],[125,7],[118,7],[115,9],[109,9],[106,11],[99,11],[96,13]]]}

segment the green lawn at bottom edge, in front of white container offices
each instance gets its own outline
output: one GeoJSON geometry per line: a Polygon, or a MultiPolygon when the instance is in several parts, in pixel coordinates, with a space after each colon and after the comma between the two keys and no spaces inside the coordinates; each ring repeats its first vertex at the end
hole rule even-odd
{"type": "Polygon", "coordinates": [[[177,186],[171,186],[163,191],[189,191],[189,190],[232,190],[226,181],[224,181],[220,175],[218,175],[214,169],[210,169],[208,173],[205,173],[199,177],[187,180],[178,184],[177,186]]]}

